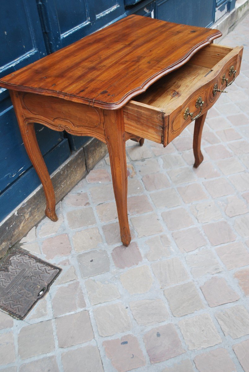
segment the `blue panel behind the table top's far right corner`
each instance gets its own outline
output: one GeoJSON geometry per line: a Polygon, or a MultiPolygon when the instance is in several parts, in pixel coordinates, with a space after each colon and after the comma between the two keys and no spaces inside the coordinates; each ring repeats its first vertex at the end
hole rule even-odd
{"type": "Polygon", "coordinates": [[[216,0],[155,1],[155,18],[185,25],[209,27],[214,23],[216,0]]]}

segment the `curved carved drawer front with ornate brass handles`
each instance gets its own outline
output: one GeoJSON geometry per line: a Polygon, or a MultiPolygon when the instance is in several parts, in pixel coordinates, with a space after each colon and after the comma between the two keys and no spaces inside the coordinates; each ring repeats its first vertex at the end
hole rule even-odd
{"type": "MultiPolygon", "coordinates": [[[[233,72],[229,76],[230,68],[233,66],[236,70],[235,78],[240,71],[240,64],[242,58],[243,48],[234,48],[232,52],[227,55],[228,58],[223,58],[209,74],[203,79],[203,85],[191,93],[184,102],[170,112],[165,114],[165,122],[168,122],[167,138],[165,138],[164,145],[167,145],[175,137],[177,137],[197,115],[201,116],[207,112],[217,99],[220,97],[221,92],[214,89],[227,90],[229,86],[226,84],[232,83],[233,72]],[[237,50],[236,50],[237,49],[237,50]],[[224,59],[226,61],[224,61],[224,59]],[[223,76],[225,77],[224,80],[223,76]],[[208,80],[208,81],[207,81],[208,80]],[[198,102],[198,100],[200,102],[198,102]],[[203,104],[201,103],[203,102],[203,104]],[[190,115],[192,113],[192,115],[190,115]]],[[[170,108],[167,108],[170,111],[170,108]]]]}

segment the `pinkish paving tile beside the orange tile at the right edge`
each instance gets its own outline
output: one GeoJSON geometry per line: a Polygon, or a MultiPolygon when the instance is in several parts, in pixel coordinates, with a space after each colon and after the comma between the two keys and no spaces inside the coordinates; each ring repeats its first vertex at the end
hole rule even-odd
{"type": "Polygon", "coordinates": [[[240,297],[227,284],[224,278],[214,276],[201,287],[202,293],[210,307],[237,301],[240,297]]]}

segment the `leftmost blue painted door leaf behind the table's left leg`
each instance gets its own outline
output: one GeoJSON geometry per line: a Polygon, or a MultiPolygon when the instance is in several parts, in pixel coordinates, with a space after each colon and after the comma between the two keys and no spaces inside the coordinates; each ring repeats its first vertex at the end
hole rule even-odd
{"type": "MultiPolygon", "coordinates": [[[[35,1],[1,1],[0,34],[0,76],[47,54],[35,1]]],[[[36,133],[52,172],[70,156],[68,140],[38,124],[36,133]]],[[[1,221],[40,184],[23,146],[9,93],[1,88],[0,164],[1,221]]]]}

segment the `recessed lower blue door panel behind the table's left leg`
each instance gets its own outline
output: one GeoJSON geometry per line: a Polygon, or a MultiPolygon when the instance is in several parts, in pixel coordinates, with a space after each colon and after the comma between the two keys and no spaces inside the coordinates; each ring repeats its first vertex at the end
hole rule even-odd
{"type": "MultiPolygon", "coordinates": [[[[4,100],[1,106],[3,110],[0,113],[0,192],[31,167],[10,98],[4,100]]],[[[46,154],[64,139],[63,132],[52,131],[40,124],[36,124],[35,127],[42,154],[46,154]]]]}

